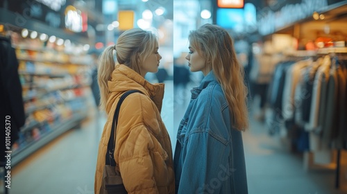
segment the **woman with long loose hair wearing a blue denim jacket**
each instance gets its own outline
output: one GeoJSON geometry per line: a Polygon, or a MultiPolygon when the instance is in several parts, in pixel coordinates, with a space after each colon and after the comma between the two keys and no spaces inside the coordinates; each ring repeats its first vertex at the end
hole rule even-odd
{"type": "Polygon", "coordinates": [[[228,32],[205,24],[189,34],[190,71],[205,78],[178,129],[178,193],[248,193],[242,131],[248,127],[244,67],[228,32]]]}

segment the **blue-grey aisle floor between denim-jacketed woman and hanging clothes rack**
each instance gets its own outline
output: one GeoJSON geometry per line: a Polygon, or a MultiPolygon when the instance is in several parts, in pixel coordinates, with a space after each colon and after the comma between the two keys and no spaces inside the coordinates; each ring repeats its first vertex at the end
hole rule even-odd
{"type": "Polygon", "coordinates": [[[340,189],[335,189],[335,166],[304,170],[303,156],[289,152],[285,143],[269,136],[265,124],[251,119],[244,133],[249,193],[347,193],[347,152],[341,153],[340,189]]]}

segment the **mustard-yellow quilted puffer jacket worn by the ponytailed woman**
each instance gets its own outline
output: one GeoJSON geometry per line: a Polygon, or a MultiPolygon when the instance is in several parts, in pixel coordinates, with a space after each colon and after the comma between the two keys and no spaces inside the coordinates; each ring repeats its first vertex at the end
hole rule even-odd
{"type": "Polygon", "coordinates": [[[115,161],[128,193],[175,193],[174,166],[169,134],[160,117],[164,85],[152,85],[123,64],[116,66],[108,82],[108,119],[99,143],[94,191],[99,193],[113,114],[125,91],[119,111],[115,161]]]}

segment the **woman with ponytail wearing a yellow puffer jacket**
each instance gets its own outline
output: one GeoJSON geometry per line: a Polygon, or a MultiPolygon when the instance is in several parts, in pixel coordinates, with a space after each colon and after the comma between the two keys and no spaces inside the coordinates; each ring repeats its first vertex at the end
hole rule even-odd
{"type": "Polygon", "coordinates": [[[162,57],[158,39],[150,31],[133,28],[122,33],[115,46],[103,51],[98,70],[101,109],[108,114],[96,164],[94,190],[99,193],[113,114],[124,92],[137,89],[121,105],[116,132],[115,161],[128,193],[174,193],[172,149],[160,111],[164,84],[144,79],[158,71],[162,57]],[[117,56],[115,65],[114,54],[117,56]]]}

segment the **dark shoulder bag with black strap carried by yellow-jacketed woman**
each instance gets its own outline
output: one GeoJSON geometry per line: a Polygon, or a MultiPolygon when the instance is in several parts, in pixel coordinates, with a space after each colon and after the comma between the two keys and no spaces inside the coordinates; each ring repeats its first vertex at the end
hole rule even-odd
{"type": "Polygon", "coordinates": [[[114,158],[115,152],[115,140],[116,140],[116,128],[118,122],[119,109],[121,107],[121,103],[129,94],[133,94],[134,92],[142,93],[139,90],[129,90],[126,91],[125,94],[121,96],[119,102],[116,107],[115,115],[113,116],[112,127],[110,139],[108,140],[108,150],[105,156],[105,166],[103,167],[103,179],[101,181],[100,194],[126,194],[126,188],[123,184],[123,179],[121,179],[121,173],[116,170],[116,161],[114,158]]]}

